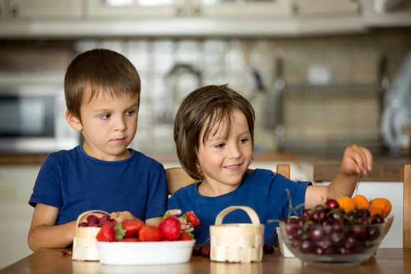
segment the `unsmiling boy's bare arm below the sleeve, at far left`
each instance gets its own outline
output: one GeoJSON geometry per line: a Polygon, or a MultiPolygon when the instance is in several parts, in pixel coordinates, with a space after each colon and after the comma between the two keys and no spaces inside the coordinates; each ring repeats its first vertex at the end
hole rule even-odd
{"type": "Polygon", "coordinates": [[[76,221],[55,225],[59,209],[37,203],[27,241],[32,251],[47,248],[65,248],[73,242],[76,221]]]}

